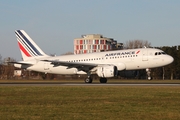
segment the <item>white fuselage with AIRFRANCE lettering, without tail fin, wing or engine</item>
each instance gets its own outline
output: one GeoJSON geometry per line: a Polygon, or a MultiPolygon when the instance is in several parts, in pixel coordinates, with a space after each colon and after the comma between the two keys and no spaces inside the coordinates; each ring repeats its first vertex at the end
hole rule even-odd
{"type": "MultiPolygon", "coordinates": [[[[139,48],[90,54],[62,55],[45,58],[42,57],[41,59],[33,60],[35,64],[27,67],[27,70],[53,74],[86,74],[86,72],[78,71],[77,68],[54,66],[51,64],[51,62],[42,61],[44,59],[74,63],[94,63],[98,66],[114,65],[118,68],[119,71],[161,67],[168,65],[173,61],[171,56],[164,54],[164,52],[159,49],[139,48]]],[[[23,68],[19,64],[15,64],[15,66],[23,68]]]]}

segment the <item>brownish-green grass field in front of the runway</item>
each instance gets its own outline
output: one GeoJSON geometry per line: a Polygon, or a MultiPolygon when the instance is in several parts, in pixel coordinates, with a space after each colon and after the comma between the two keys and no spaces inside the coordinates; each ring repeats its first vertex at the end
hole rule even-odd
{"type": "Polygon", "coordinates": [[[177,120],[179,111],[172,86],[0,87],[1,120],[177,120]]]}

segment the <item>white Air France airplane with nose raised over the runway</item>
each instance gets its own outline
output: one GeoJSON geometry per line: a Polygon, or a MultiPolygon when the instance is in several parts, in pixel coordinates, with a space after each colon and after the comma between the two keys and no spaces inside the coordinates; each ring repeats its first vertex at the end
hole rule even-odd
{"type": "Polygon", "coordinates": [[[137,48],[75,55],[50,56],[29,37],[24,30],[16,30],[22,61],[14,63],[17,68],[45,74],[87,74],[85,83],[92,83],[93,74],[100,83],[115,77],[119,71],[162,67],[174,61],[173,57],[155,48],[137,48]]]}

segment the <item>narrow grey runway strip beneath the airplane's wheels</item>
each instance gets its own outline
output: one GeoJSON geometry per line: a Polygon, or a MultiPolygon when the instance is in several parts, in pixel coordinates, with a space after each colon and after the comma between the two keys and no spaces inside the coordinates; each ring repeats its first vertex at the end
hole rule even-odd
{"type": "Polygon", "coordinates": [[[85,84],[85,83],[52,83],[52,82],[14,82],[14,83],[0,83],[1,86],[174,86],[180,87],[180,84],[177,83],[92,83],[92,84],[85,84]]]}

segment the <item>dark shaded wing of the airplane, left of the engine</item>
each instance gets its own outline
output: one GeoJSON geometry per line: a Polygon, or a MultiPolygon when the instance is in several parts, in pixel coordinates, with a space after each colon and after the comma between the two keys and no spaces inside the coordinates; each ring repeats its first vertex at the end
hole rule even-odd
{"type": "Polygon", "coordinates": [[[79,71],[85,71],[85,72],[88,72],[89,70],[98,66],[98,64],[93,64],[93,63],[64,62],[64,61],[55,61],[55,60],[42,60],[42,61],[51,62],[51,64],[53,64],[54,67],[67,66],[68,68],[77,68],[79,71]]]}

